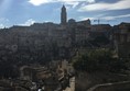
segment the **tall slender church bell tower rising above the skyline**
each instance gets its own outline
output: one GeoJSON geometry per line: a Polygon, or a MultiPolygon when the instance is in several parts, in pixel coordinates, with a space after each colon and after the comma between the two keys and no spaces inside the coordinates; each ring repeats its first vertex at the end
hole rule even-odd
{"type": "Polygon", "coordinates": [[[67,23],[67,13],[66,13],[66,8],[65,5],[62,7],[62,12],[61,12],[61,24],[66,25],[67,23]]]}

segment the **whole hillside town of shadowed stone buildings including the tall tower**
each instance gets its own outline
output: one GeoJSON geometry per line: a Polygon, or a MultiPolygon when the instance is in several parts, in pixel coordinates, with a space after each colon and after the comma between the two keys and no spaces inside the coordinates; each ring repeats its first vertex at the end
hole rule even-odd
{"type": "Polygon", "coordinates": [[[116,58],[130,58],[130,23],[67,21],[65,5],[61,11],[61,24],[0,30],[0,91],[63,91],[76,75],[72,60],[90,49],[111,49],[116,58]]]}

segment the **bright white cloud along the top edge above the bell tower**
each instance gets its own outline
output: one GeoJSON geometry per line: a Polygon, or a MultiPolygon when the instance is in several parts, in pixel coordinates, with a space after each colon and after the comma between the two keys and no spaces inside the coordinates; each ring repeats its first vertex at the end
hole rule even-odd
{"type": "Polygon", "coordinates": [[[62,2],[62,3],[66,3],[66,4],[72,4],[72,5],[77,5],[78,2],[88,2],[88,3],[93,3],[95,2],[95,0],[29,0],[30,3],[32,3],[33,5],[41,5],[44,3],[52,3],[52,2],[62,2]]]}

